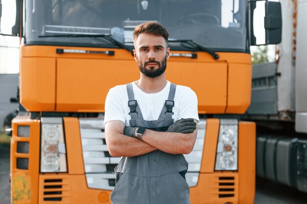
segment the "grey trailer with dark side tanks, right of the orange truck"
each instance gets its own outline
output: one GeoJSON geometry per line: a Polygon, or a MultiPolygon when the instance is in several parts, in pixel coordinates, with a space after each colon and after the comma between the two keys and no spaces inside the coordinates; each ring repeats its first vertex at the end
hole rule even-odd
{"type": "Polygon", "coordinates": [[[256,174],[307,192],[307,1],[281,0],[278,60],[253,67],[244,119],[257,125],[256,174]]]}

